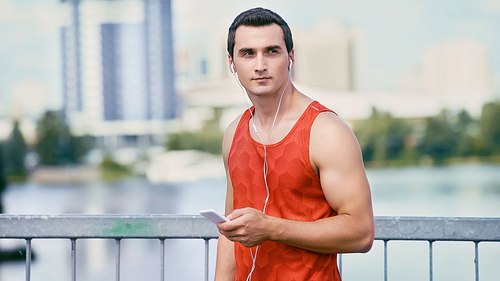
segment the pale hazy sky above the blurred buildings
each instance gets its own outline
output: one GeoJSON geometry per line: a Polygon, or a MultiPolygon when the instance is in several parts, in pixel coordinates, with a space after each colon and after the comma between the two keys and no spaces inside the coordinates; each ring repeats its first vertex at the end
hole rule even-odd
{"type": "MultiPolygon", "coordinates": [[[[226,34],[257,6],[280,14],[292,33],[324,18],[364,30],[372,90],[394,90],[426,48],[460,38],[485,44],[500,77],[500,0],[172,0],[175,47],[226,34]]],[[[0,116],[61,107],[61,15],[58,0],[0,0],[0,116]]]]}

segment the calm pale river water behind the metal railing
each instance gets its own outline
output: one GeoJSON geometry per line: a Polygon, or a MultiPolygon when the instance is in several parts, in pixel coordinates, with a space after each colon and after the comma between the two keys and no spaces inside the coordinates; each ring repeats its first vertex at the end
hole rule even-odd
{"type": "MultiPolygon", "coordinates": [[[[500,217],[500,166],[368,170],[376,216],[500,217]]],[[[10,214],[198,214],[223,212],[225,179],[177,185],[145,179],[119,183],[12,184],[4,193],[10,214]]],[[[24,241],[1,241],[3,248],[24,241]]],[[[31,280],[70,280],[70,242],[33,240],[31,280]]],[[[217,241],[210,242],[213,280],[217,241]]],[[[498,280],[500,243],[480,244],[481,280],[498,280]]],[[[78,240],[77,280],[114,280],[114,241],[78,240]]],[[[121,280],[159,280],[159,241],[122,241],[121,280]]],[[[203,280],[204,241],[166,241],[166,280],[203,280]]],[[[427,242],[389,242],[389,280],[428,280],[427,242]]],[[[474,244],[436,242],[434,280],[474,280],[474,244]]],[[[383,243],[368,254],[343,257],[344,280],[383,280],[383,243]]],[[[24,264],[0,264],[0,281],[25,280],[24,264]]]]}

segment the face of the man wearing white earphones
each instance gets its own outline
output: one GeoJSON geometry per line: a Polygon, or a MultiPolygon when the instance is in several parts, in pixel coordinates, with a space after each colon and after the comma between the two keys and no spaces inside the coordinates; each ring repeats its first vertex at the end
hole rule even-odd
{"type": "MultiPolygon", "coordinates": [[[[277,24],[236,29],[233,58],[236,73],[250,96],[276,94],[288,82],[289,57],[277,24]]],[[[293,60],[293,51],[290,54],[293,60]]]]}

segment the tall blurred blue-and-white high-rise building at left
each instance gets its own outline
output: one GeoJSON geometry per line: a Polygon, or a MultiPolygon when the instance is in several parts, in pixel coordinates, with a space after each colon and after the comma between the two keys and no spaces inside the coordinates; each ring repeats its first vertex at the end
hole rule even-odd
{"type": "Polygon", "coordinates": [[[171,1],[61,2],[63,103],[73,133],[104,146],[161,139],[178,104],[171,1]]]}

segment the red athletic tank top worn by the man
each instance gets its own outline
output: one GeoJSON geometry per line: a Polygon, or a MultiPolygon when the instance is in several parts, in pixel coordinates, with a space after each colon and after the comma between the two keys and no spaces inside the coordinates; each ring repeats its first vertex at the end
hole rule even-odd
{"type": "MultiPolygon", "coordinates": [[[[252,108],[253,110],[253,108],[252,108]]],[[[316,116],[328,108],[312,102],[285,138],[267,145],[269,202],[266,214],[290,220],[315,221],[335,216],[326,201],[318,175],[311,167],[309,135],[316,116]]],[[[248,110],[236,128],[229,152],[229,174],[234,209],[263,210],[267,196],[264,184],[264,148],[250,136],[248,110]]],[[[252,267],[250,249],[235,245],[236,280],[245,281],[252,267]]],[[[252,248],[255,252],[255,248],[252,248]]],[[[337,255],[319,254],[281,243],[266,241],[259,247],[252,280],[338,281],[337,255]]]]}

